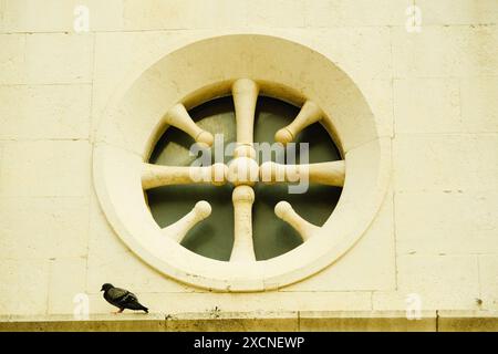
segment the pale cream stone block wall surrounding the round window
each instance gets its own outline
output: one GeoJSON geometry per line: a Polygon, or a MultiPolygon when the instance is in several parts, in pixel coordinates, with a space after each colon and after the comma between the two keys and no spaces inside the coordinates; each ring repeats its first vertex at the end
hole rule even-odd
{"type": "Polygon", "coordinates": [[[91,313],[103,282],[157,313],[498,310],[496,0],[0,0],[0,315],[91,313]],[[353,4],[354,3],[354,4],[353,4]],[[90,32],[75,33],[76,4],[90,32]],[[408,6],[422,31],[408,32],[408,6]],[[367,235],[320,274],[211,293],[159,274],[117,238],[92,146],[131,73],[198,39],[262,33],[326,55],[392,137],[392,184],[367,235]],[[477,301],[481,300],[481,303],[477,301]]]}

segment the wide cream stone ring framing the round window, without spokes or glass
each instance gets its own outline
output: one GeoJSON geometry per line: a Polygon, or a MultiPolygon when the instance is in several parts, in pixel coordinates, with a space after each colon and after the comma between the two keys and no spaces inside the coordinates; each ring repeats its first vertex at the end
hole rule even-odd
{"type": "Polygon", "coordinates": [[[102,117],[93,164],[107,220],[146,263],[194,287],[264,291],[331,266],[365,233],[388,188],[391,138],[380,133],[354,82],[328,58],[276,37],[232,34],[190,43],[127,80],[102,117]],[[144,164],[168,127],[165,113],[178,104],[188,111],[238,85],[249,96],[257,87],[259,95],[297,106],[313,102],[345,162],[343,191],[325,223],[301,246],[262,261],[225,262],[181,247],[152,217],[142,186],[144,164]]]}

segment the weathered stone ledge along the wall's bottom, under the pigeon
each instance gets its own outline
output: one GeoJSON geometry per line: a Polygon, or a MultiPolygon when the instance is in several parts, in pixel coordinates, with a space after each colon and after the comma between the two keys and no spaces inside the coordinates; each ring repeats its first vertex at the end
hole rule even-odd
{"type": "Polygon", "coordinates": [[[498,331],[498,311],[424,311],[407,320],[404,311],[203,312],[178,314],[92,314],[0,316],[2,331],[498,331]]]}

